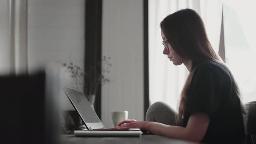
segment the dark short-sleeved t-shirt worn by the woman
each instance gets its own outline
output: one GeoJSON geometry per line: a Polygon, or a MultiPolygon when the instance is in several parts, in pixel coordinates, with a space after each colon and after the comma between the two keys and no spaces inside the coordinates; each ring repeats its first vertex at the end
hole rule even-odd
{"type": "Polygon", "coordinates": [[[187,126],[193,113],[209,115],[210,123],[202,143],[243,144],[243,116],[234,84],[230,70],[218,62],[203,62],[195,70],[187,93],[183,126],[187,126]]]}

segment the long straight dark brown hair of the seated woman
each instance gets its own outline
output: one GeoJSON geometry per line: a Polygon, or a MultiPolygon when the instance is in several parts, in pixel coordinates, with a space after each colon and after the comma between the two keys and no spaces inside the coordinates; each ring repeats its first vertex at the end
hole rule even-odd
{"type": "MultiPolygon", "coordinates": [[[[181,120],[186,110],[187,91],[191,85],[197,65],[208,60],[221,64],[223,64],[223,61],[214,52],[208,40],[203,20],[194,10],[183,9],[172,13],[161,21],[160,27],[174,51],[181,57],[192,60],[190,73],[181,92],[178,113],[178,120],[181,120]]],[[[231,77],[234,83],[230,94],[231,92],[236,92],[236,95],[239,96],[240,92],[232,74],[231,77]]]]}

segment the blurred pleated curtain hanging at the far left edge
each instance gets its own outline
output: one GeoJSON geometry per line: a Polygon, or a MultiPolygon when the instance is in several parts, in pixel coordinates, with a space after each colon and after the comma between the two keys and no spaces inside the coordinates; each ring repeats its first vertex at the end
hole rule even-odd
{"type": "Polygon", "coordinates": [[[0,0],[0,74],[27,73],[27,0],[0,0]]]}

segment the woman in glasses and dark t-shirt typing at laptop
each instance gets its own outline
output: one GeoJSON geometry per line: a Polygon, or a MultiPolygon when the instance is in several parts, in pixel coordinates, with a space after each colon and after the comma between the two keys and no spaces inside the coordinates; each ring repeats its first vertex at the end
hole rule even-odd
{"type": "Polygon", "coordinates": [[[180,10],[165,17],[160,27],[163,54],[174,65],[184,64],[190,72],[178,114],[157,102],[148,108],[146,121],[125,120],[113,129],[141,128],[164,137],[203,143],[243,143],[239,89],[213,51],[200,16],[194,10],[180,10]]]}

